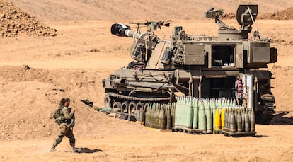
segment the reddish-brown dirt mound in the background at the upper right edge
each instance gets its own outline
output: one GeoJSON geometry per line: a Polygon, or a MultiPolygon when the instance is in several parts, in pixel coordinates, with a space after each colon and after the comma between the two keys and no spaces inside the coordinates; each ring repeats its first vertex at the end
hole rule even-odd
{"type": "Polygon", "coordinates": [[[287,8],[280,12],[265,13],[261,15],[259,18],[273,20],[293,20],[293,7],[287,8]]]}

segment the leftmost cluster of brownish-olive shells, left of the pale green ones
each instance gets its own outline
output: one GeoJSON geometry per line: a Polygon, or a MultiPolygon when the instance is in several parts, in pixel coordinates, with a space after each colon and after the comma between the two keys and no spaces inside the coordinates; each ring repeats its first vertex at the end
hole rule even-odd
{"type": "Polygon", "coordinates": [[[148,103],[144,125],[156,129],[172,129],[176,103],[148,103]]]}

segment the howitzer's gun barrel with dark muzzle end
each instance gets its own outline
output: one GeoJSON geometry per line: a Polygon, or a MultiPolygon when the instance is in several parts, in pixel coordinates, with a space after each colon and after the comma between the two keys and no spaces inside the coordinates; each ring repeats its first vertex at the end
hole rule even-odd
{"type": "Polygon", "coordinates": [[[130,26],[122,24],[122,23],[115,23],[111,26],[111,34],[117,35],[120,37],[141,37],[141,34],[137,33],[130,29],[130,26]]]}

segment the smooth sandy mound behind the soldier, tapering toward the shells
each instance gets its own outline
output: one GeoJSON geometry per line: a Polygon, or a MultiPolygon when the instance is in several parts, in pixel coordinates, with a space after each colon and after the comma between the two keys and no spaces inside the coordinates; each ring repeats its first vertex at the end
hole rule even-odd
{"type": "MultiPolygon", "coordinates": [[[[71,98],[71,108],[76,110],[76,137],[107,137],[113,135],[113,130],[114,134],[125,135],[147,131],[141,125],[108,117],[82,103],[80,100],[84,94],[76,91],[83,91],[83,88],[69,83],[71,79],[78,80],[78,74],[70,70],[67,72],[69,75],[64,75],[62,70],[1,66],[0,141],[57,137],[58,126],[49,117],[64,97],[71,98]]],[[[86,83],[82,87],[96,91],[96,87],[86,86],[86,83]]]]}

